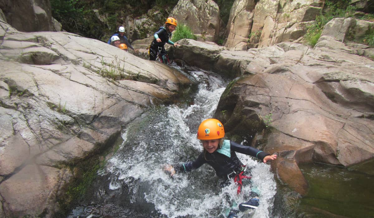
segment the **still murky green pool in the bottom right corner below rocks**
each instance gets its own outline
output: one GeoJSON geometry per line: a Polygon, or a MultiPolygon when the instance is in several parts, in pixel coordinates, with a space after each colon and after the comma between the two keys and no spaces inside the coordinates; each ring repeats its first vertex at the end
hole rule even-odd
{"type": "Polygon", "coordinates": [[[374,161],[351,168],[307,163],[299,166],[309,183],[297,217],[374,218],[374,161]]]}

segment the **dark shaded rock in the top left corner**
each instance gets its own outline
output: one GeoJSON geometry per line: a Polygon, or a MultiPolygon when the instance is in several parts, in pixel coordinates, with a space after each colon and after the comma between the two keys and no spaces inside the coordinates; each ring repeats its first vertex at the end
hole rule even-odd
{"type": "Polygon", "coordinates": [[[61,31],[61,24],[52,17],[49,1],[1,0],[0,9],[6,22],[18,31],[61,31]]]}

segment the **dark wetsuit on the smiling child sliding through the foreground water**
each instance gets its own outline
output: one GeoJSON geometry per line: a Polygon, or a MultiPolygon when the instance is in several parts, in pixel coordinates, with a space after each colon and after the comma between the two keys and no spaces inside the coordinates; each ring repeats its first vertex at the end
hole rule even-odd
{"type": "Polygon", "coordinates": [[[264,157],[270,155],[254,147],[240,145],[230,140],[224,140],[223,146],[213,153],[204,150],[196,160],[179,164],[174,167],[176,172],[189,172],[197,169],[204,163],[209,164],[215,170],[217,176],[227,179],[227,175],[232,172],[240,172],[243,163],[236,156],[235,152],[257,157],[261,161],[264,157]]]}

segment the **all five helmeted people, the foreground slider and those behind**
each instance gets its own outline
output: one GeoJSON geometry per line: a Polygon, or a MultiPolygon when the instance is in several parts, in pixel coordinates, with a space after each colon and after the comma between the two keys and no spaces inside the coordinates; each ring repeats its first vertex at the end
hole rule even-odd
{"type": "MultiPolygon", "coordinates": [[[[177,27],[177,20],[169,17],[166,19],[165,25],[159,28],[159,30],[154,34],[153,42],[149,47],[150,60],[159,60],[163,63],[168,62],[167,52],[165,50],[165,44],[171,44],[175,47],[178,43],[172,42],[171,34],[177,27]]],[[[134,49],[128,42],[126,36],[124,36],[125,28],[120,27],[119,33],[114,34],[108,41],[117,47],[129,47],[134,49]]],[[[264,151],[258,150],[256,148],[237,144],[236,142],[225,140],[225,131],[222,123],[217,119],[207,119],[204,120],[198,130],[197,138],[200,139],[203,146],[203,151],[196,158],[196,160],[186,162],[183,164],[166,165],[164,170],[170,175],[174,175],[178,172],[189,172],[193,169],[197,169],[203,164],[207,163],[216,172],[216,175],[220,178],[224,178],[224,184],[230,184],[230,180],[233,179],[235,183],[238,184],[237,193],[240,193],[243,179],[249,179],[250,177],[245,172],[245,165],[236,156],[236,152],[250,155],[260,159],[263,163],[270,160],[275,160],[277,158],[276,154],[268,154],[264,151]]],[[[239,205],[239,211],[245,211],[247,209],[255,209],[259,205],[258,194],[251,194],[251,199],[247,202],[241,203],[239,205]]],[[[236,216],[235,210],[230,211],[227,215],[229,218],[234,218],[236,216]]]]}

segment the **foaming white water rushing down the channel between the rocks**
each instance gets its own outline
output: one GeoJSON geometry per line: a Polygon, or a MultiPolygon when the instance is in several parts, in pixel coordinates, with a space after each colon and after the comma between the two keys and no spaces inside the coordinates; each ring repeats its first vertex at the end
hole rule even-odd
{"type": "MultiPolygon", "coordinates": [[[[201,71],[190,73],[197,80],[207,78],[201,76],[201,71]]],[[[103,178],[109,179],[107,191],[97,191],[96,195],[108,196],[110,191],[126,195],[132,204],[129,208],[137,208],[140,212],[135,215],[140,216],[151,205],[158,213],[154,217],[225,217],[233,203],[248,201],[251,189],[256,189],[260,193],[258,209],[238,215],[269,217],[276,193],[270,165],[238,153],[239,159],[252,172],[252,184],[243,186],[239,195],[234,183],[221,188],[222,181],[208,165],[174,176],[163,171],[166,163],[194,160],[202,151],[196,139],[197,127],[202,120],[213,116],[224,91],[217,77],[208,77],[209,81],[215,80],[215,86],[200,81],[193,105],[156,107],[125,130],[123,144],[100,172],[103,178]]]]}

